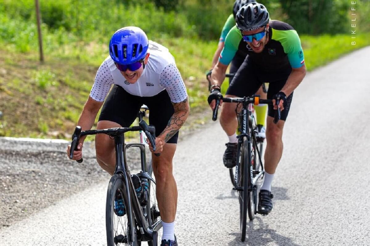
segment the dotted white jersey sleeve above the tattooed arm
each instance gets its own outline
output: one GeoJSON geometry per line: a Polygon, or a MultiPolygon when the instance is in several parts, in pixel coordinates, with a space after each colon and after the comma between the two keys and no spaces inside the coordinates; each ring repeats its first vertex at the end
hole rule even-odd
{"type": "Polygon", "coordinates": [[[163,69],[159,76],[159,85],[166,88],[169,98],[173,103],[179,103],[188,98],[185,83],[175,64],[171,63],[163,69]]]}

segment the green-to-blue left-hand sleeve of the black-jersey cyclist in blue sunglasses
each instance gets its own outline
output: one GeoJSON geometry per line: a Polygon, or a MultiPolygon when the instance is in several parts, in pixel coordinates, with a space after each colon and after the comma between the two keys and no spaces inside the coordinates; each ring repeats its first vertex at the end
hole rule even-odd
{"type": "Polygon", "coordinates": [[[223,47],[218,59],[222,64],[230,64],[236,51],[238,51],[240,40],[242,40],[242,33],[240,33],[234,24],[234,27],[231,28],[228,35],[226,35],[225,46],[223,47]]]}

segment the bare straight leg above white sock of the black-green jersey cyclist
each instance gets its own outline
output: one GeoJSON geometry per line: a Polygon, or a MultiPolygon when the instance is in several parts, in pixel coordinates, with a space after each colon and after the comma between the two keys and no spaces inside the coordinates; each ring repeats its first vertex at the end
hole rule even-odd
{"type": "Polygon", "coordinates": [[[273,123],[273,117],[267,117],[266,129],[266,151],[265,151],[265,171],[274,174],[277,164],[283,154],[283,127],[284,120],[279,120],[277,124],[273,123]]]}

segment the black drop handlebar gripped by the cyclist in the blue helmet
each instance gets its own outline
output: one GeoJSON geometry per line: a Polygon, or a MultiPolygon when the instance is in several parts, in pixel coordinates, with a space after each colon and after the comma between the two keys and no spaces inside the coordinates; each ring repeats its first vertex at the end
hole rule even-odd
{"type": "MultiPolygon", "coordinates": [[[[107,134],[109,136],[118,136],[121,134],[124,134],[127,131],[144,131],[145,135],[147,135],[147,138],[149,139],[150,144],[153,147],[153,151],[156,150],[155,147],[155,127],[154,126],[148,126],[148,124],[141,120],[139,122],[139,126],[133,126],[133,127],[116,127],[116,128],[109,128],[109,129],[102,129],[102,130],[86,130],[81,131],[81,126],[76,126],[74,133],[72,135],[72,143],[71,143],[71,153],[70,153],[70,159],[73,158],[73,151],[77,150],[78,146],[78,140],[80,140],[80,137],[87,136],[87,135],[95,135],[95,134],[107,134]]],[[[155,153],[155,156],[160,156],[161,153],[155,153]]],[[[76,160],[78,163],[83,162],[83,158],[80,160],[76,160]]]]}

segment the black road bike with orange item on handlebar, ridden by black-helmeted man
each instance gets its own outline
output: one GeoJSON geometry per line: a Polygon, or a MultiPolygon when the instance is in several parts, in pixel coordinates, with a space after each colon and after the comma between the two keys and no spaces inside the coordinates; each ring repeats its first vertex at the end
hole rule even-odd
{"type": "MultiPolygon", "coordinates": [[[[218,106],[220,101],[223,103],[237,103],[236,115],[238,118],[239,135],[238,137],[238,153],[235,166],[235,178],[233,181],[234,190],[238,192],[239,210],[240,210],[240,234],[241,241],[245,241],[247,213],[250,220],[254,219],[257,210],[257,191],[261,184],[265,171],[256,140],[256,123],[252,113],[252,104],[259,103],[272,104],[272,100],[259,99],[259,96],[250,96],[244,98],[223,98],[221,93],[217,94],[216,107],[213,110],[212,120],[217,119],[218,106]],[[238,108],[241,106],[240,113],[238,108]]],[[[278,105],[279,99],[276,100],[278,105]]],[[[276,110],[274,123],[280,120],[280,110],[276,110]]],[[[232,170],[230,168],[230,170],[232,170]]]]}

